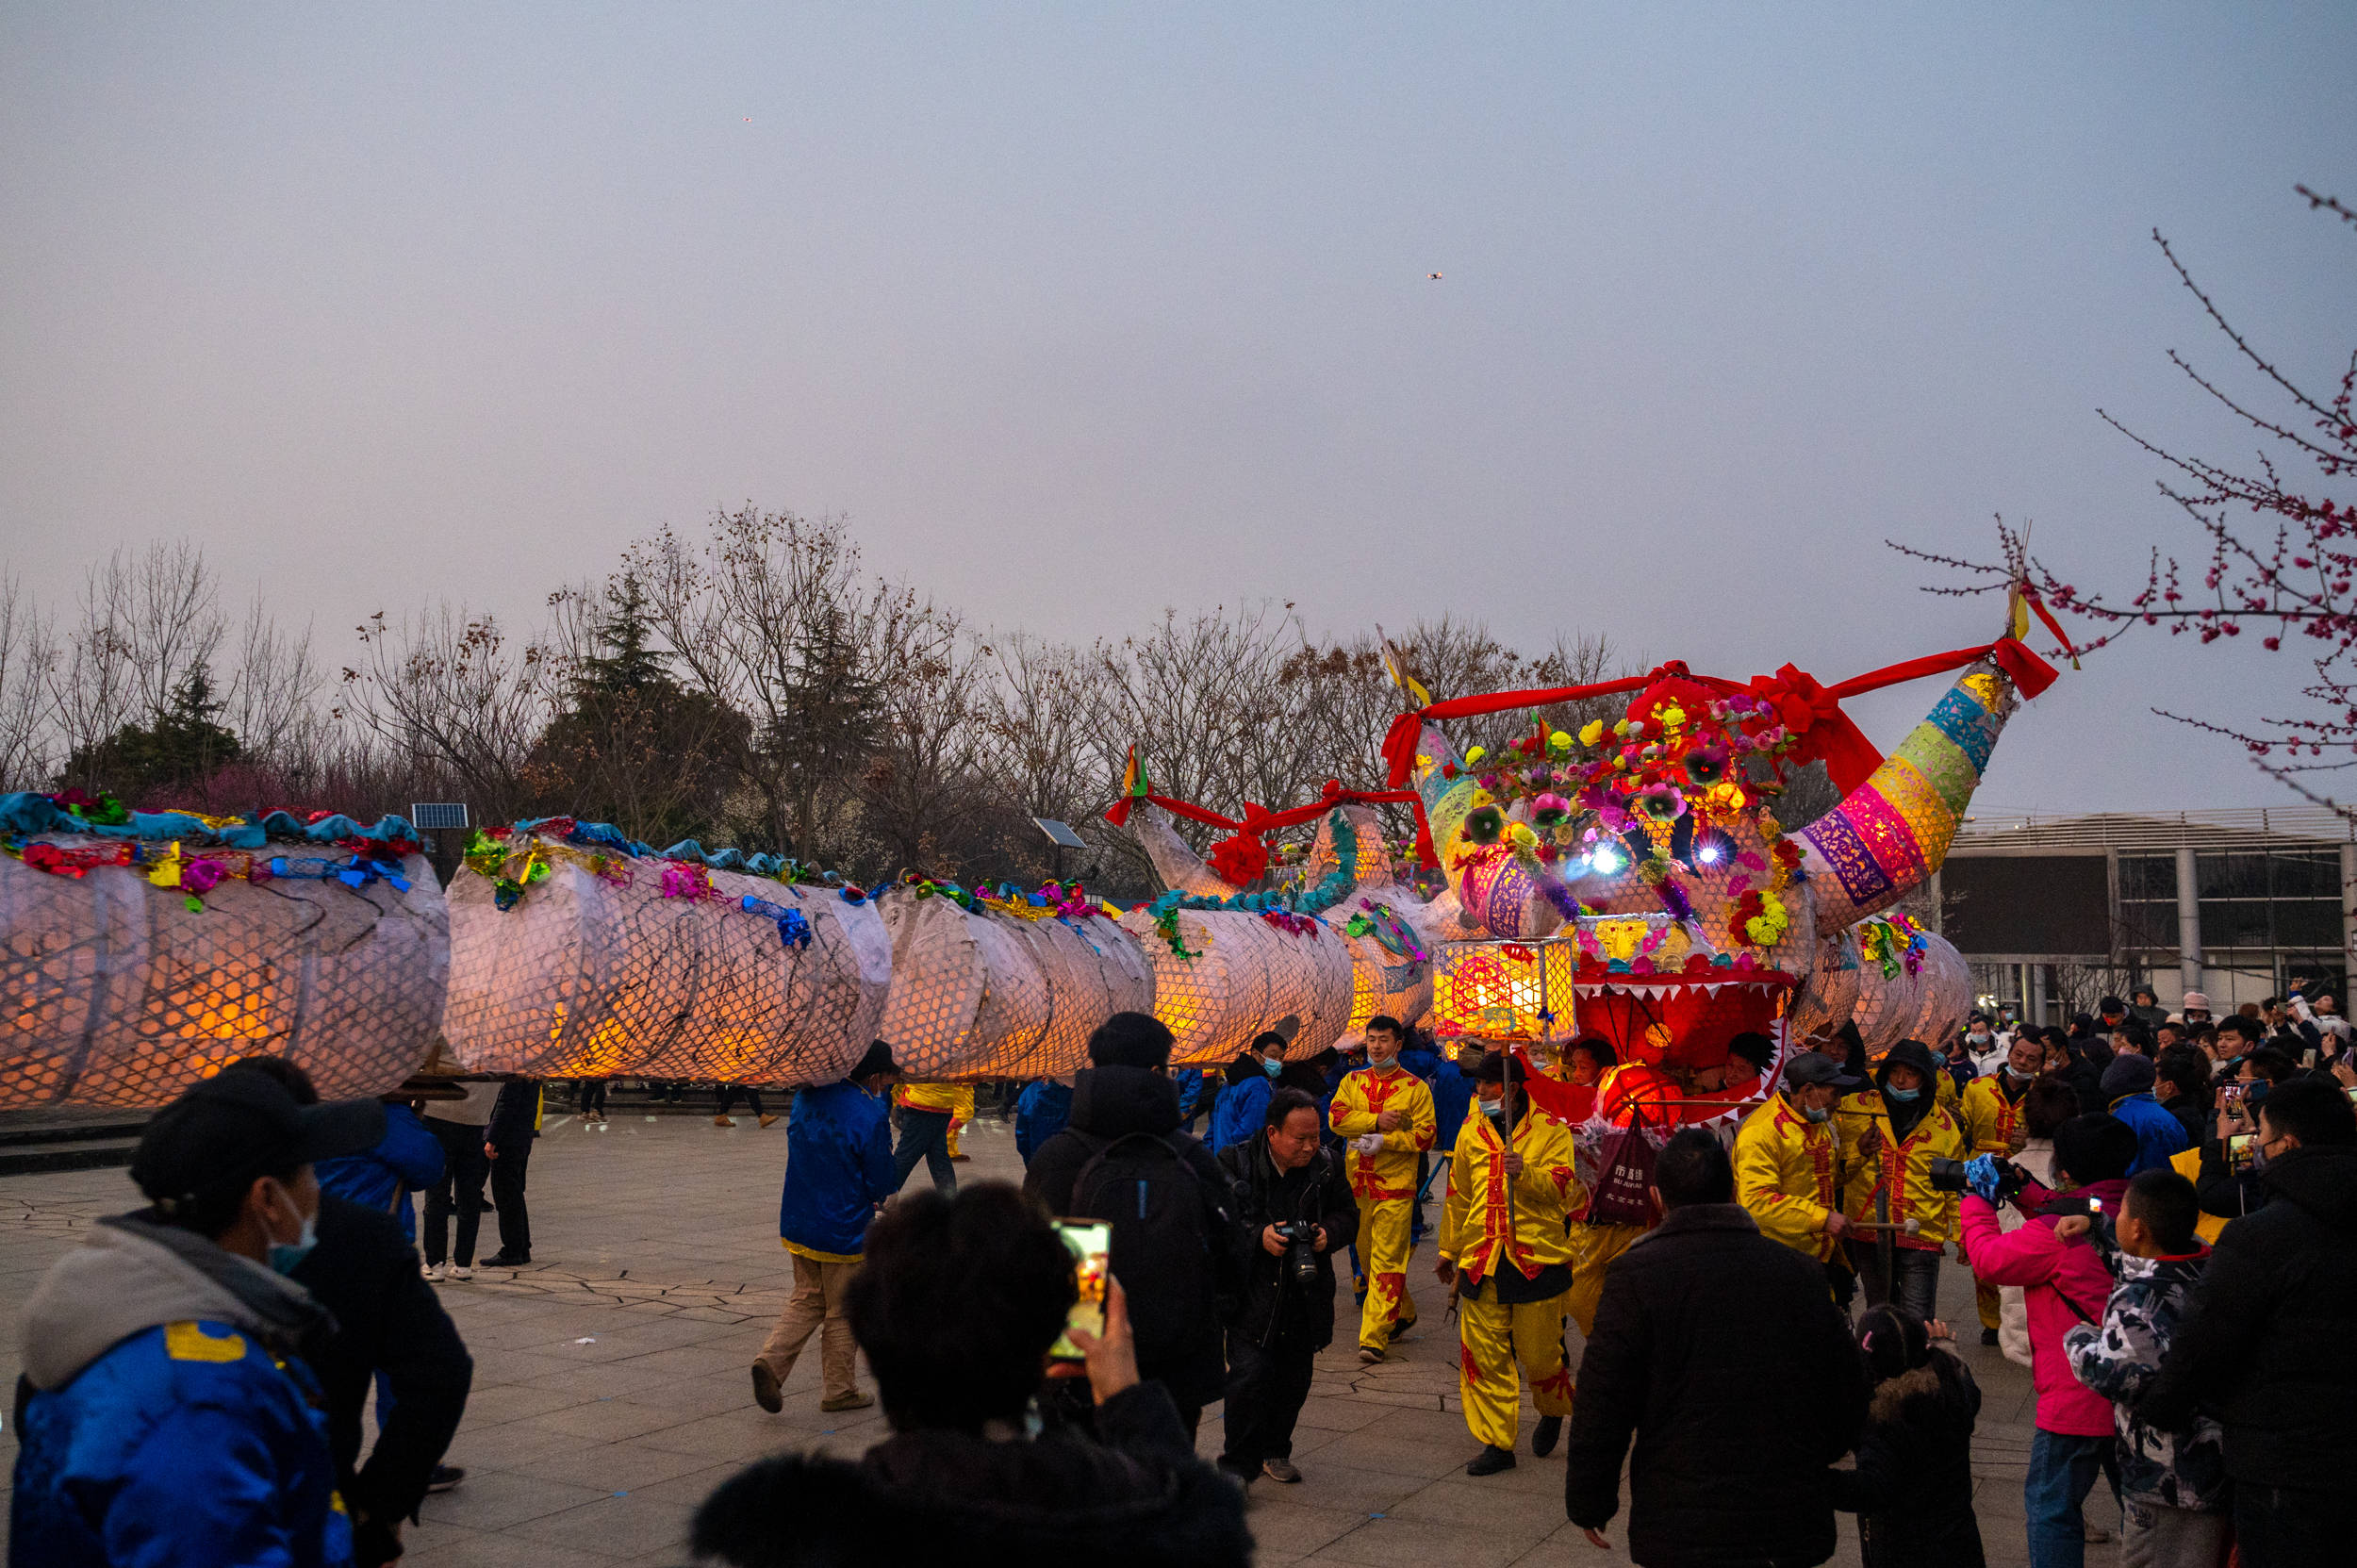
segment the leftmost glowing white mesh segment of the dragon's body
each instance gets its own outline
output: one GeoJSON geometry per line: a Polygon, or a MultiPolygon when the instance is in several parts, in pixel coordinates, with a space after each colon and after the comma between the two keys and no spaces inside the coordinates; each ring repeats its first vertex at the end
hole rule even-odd
{"type": "Polygon", "coordinates": [[[434,870],[403,870],[408,891],[226,879],[191,910],[134,868],[0,858],[0,1108],[163,1106],[236,1056],[285,1056],[330,1099],[396,1087],[450,979],[434,870]]]}

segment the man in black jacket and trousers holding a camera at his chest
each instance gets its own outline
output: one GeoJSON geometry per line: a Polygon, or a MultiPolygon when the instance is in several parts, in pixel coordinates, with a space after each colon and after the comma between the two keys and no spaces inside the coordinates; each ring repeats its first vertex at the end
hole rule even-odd
{"type": "Polygon", "coordinates": [[[1228,1212],[1247,1238],[1244,1290],[1228,1316],[1226,1450],[1219,1467],[1301,1481],[1294,1417],[1310,1396],[1318,1351],[1334,1339],[1334,1250],[1358,1236],[1358,1200],[1318,1137],[1318,1101],[1294,1087],[1268,1096],[1266,1125],[1219,1151],[1228,1212]]]}

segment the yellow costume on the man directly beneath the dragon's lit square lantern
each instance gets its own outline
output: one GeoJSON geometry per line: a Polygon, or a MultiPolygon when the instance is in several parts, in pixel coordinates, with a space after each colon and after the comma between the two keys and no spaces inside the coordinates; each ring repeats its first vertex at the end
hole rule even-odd
{"type": "Polygon", "coordinates": [[[1523,1174],[1506,1179],[1506,1141],[1475,1101],[1457,1153],[1450,1158],[1450,1203],[1440,1219],[1440,1257],[1457,1264],[1457,1389],[1466,1427],[1490,1448],[1511,1450],[1523,1422],[1523,1382],[1530,1377],[1539,1415],[1572,1412],[1572,1370],[1563,1361],[1563,1299],[1508,1306],[1497,1299],[1506,1271],[1534,1280],[1551,1264],[1570,1264],[1565,1219],[1586,1205],[1572,1172],[1572,1134],[1563,1122],[1525,1115],[1513,1129],[1523,1174]],[[1511,1191],[1508,1191],[1511,1186],[1511,1191]]]}

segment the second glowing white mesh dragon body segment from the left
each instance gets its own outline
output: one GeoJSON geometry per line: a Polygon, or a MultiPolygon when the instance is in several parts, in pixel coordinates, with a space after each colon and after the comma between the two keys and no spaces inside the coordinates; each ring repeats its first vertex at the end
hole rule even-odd
{"type": "Polygon", "coordinates": [[[556,861],[511,910],[457,875],[443,1030],[469,1070],[816,1085],[858,1063],[891,988],[874,908],[726,870],[712,898],[665,898],[662,861],[625,865],[627,887],[556,861]],[[799,910],[811,941],[780,941],[747,894],[799,910]]]}

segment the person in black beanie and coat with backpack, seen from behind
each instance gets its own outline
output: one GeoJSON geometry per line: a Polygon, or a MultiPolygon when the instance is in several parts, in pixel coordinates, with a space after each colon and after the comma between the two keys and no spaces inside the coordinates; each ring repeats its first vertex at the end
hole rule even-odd
{"type": "Polygon", "coordinates": [[[1169,1233],[1113,1219],[1113,1276],[1129,1292],[1138,1337],[1138,1372],[1169,1389],[1188,1434],[1202,1408],[1226,1389],[1219,1313],[1214,1302],[1235,1287],[1235,1221],[1228,1179],[1202,1144],[1178,1132],[1178,1089],[1169,1080],[1171,1033],[1148,1014],[1122,1012],[1089,1035],[1089,1061],[1072,1075],[1072,1118],[1032,1153],[1025,1195],[1049,1214],[1075,1217],[1075,1186],[1098,1155],[1127,1153],[1115,1144],[1143,1134],[1169,1148],[1193,1177],[1197,1212],[1174,1217],[1169,1233]],[[1200,1311],[1169,1311],[1171,1302],[1200,1311]]]}

